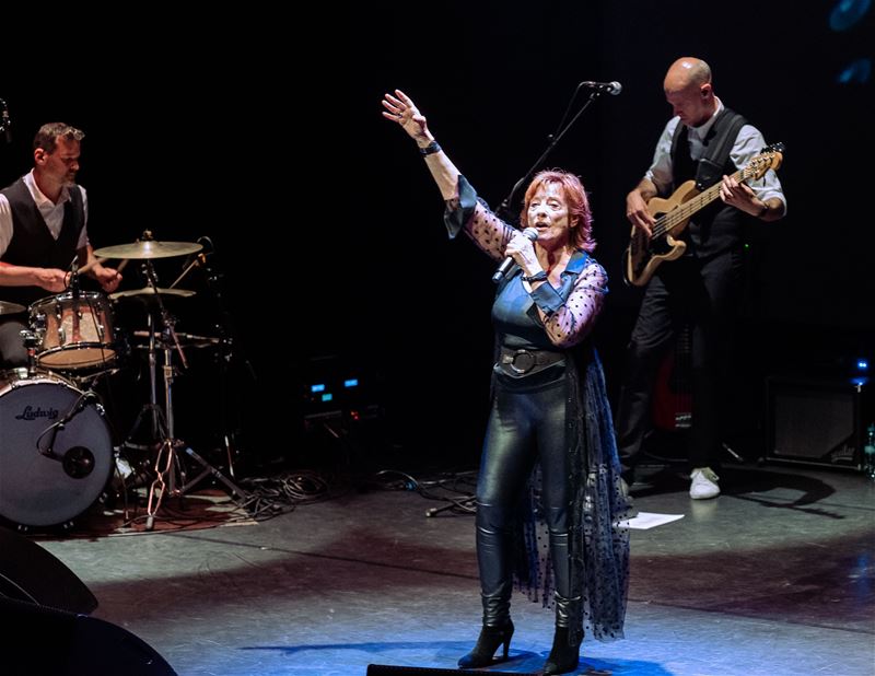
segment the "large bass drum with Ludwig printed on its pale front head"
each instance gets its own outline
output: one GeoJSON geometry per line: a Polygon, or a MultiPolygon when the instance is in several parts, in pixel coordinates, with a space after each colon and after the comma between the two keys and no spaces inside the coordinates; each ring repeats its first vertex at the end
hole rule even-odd
{"type": "Polygon", "coordinates": [[[0,373],[0,517],[72,525],[106,488],[113,442],[96,395],[54,373],[0,373]]]}

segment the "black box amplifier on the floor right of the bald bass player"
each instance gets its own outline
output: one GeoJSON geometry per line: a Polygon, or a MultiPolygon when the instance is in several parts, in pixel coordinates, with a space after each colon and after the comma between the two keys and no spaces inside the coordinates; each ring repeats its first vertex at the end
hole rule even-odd
{"type": "Polygon", "coordinates": [[[859,470],[867,394],[850,381],[768,378],[766,459],[859,470]]]}

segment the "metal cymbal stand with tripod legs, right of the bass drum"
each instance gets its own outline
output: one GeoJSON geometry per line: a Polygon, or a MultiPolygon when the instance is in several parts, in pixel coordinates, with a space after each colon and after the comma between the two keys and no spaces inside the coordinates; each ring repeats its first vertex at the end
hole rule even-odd
{"type": "MultiPolygon", "coordinates": [[[[155,514],[158,513],[159,509],[161,508],[161,502],[165,496],[165,493],[170,493],[171,496],[178,496],[182,497],[186,492],[188,492],[196,483],[199,483],[202,479],[208,476],[212,476],[214,479],[224,483],[224,486],[231,490],[232,496],[236,496],[243,500],[248,499],[248,494],[236,486],[233,481],[231,481],[228,477],[225,477],[217,467],[210,465],[207,461],[205,461],[200,455],[195,453],[192,448],[190,448],[184,441],[176,438],[175,434],[175,427],[174,427],[174,413],[173,413],[173,380],[176,375],[175,368],[173,365],[173,352],[174,349],[179,354],[179,359],[183,363],[183,368],[188,368],[188,362],[185,358],[185,353],[183,352],[182,347],[179,346],[179,339],[176,335],[174,326],[176,324],[176,319],[167,312],[163,301],[161,300],[161,293],[159,291],[158,280],[155,278],[154,269],[152,268],[151,261],[147,259],[145,264],[143,265],[143,271],[149,280],[149,285],[155,292],[155,303],[159,307],[159,312],[161,315],[162,320],[162,333],[161,333],[161,343],[162,343],[162,351],[164,353],[164,364],[162,366],[162,372],[164,376],[164,415],[163,415],[163,426],[161,427],[161,444],[159,446],[158,455],[155,457],[155,479],[152,481],[152,485],[149,488],[149,502],[147,505],[147,521],[145,521],[145,528],[147,531],[151,531],[152,526],[154,525],[155,514]],[[185,453],[195,462],[197,462],[201,466],[201,471],[198,476],[191,478],[190,480],[186,480],[186,473],[184,465],[179,462],[177,456],[177,450],[183,448],[185,453]],[[178,483],[177,483],[177,473],[178,473],[178,483]]],[[[154,330],[155,322],[151,318],[150,313],[150,338],[149,338],[149,363],[150,363],[150,386],[151,386],[151,396],[152,396],[152,405],[158,409],[156,405],[156,350],[155,350],[155,330],[154,330]]],[[[160,409],[158,409],[160,410],[160,409]]],[[[156,420],[158,416],[153,417],[153,420],[156,420]]]]}

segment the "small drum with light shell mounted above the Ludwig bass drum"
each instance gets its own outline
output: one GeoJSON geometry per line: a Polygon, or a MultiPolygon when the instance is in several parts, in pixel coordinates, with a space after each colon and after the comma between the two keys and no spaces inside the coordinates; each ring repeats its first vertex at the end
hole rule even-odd
{"type": "Polygon", "coordinates": [[[97,291],[67,291],[36,301],[31,327],[40,337],[37,363],[46,369],[88,369],[115,360],[113,310],[97,291]]]}

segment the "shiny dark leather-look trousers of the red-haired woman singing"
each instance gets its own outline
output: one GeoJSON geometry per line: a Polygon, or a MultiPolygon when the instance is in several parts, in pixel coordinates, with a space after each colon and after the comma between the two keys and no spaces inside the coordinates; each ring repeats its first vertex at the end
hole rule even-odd
{"type": "Polygon", "coordinates": [[[483,623],[510,618],[512,525],[536,462],[550,537],[556,591],[570,595],[569,486],[564,364],[514,381],[498,375],[477,485],[477,562],[483,623]]]}

